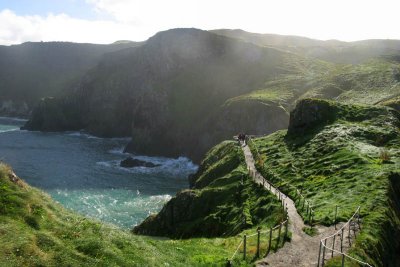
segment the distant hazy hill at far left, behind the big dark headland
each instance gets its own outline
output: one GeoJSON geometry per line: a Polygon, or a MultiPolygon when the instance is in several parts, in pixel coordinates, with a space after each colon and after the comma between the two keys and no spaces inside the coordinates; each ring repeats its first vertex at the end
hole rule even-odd
{"type": "Polygon", "coordinates": [[[136,45],[28,42],[0,46],[0,115],[27,117],[41,98],[76,87],[104,54],[136,45]]]}

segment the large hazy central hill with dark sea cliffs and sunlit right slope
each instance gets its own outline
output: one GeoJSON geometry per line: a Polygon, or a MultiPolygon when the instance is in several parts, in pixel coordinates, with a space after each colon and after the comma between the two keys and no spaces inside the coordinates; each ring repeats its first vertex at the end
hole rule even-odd
{"type": "MultiPolygon", "coordinates": [[[[255,35],[272,40],[265,46],[248,41],[246,32],[239,31],[240,38],[237,31],[222,31],[233,38],[216,32],[168,30],[140,47],[107,54],[76,90],[43,100],[25,129],[131,136],[128,152],[199,162],[238,132],[285,129],[300,99],[375,104],[400,94],[400,63],[386,55],[397,53],[396,41],[365,41],[390,49],[366,48],[371,53],[355,60],[362,63],[337,64],[284,47],[308,49],[321,41],[255,35]]],[[[330,57],[349,58],[346,53],[330,57]]]]}

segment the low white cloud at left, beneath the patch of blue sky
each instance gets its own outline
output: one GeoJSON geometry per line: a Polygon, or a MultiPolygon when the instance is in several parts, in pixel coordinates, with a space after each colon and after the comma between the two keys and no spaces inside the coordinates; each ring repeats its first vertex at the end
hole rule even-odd
{"type": "Polygon", "coordinates": [[[10,10],[0,12],[0,44],[27,41],[71,41],[112,43],[129,37],[130,25],[109,20],[83,20],[66,14],[18,16],[10,10]]]}

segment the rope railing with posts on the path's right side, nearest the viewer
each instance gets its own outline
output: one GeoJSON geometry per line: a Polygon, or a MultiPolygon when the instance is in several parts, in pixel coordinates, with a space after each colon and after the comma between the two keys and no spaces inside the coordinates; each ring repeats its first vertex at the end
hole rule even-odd
{"type": "Polygon", "coordinates": [[[325,255],[326,255],[326,250],[329,250],[328,253],[331,254],[331,258],[333,258],[335,256],[341,256],[342,257],[342,263],[341,266],[344,266],[345,260],[350,259],[352,261],[356,261],[357,263],[363,265],[363,266],[370,266],[372,267],[372,265],[370,265],[367,262],[363,262],[359,259],[356,259],[346,253],[343,252],[343,242],[345,239],[348,239],[348,248],[351,247],[351,232],[353,231],[353,236],[354,238],[356,237],[356,225],[358,226],[358,230],[361,230],[361,224],[360,224],[360,207],[357,208],[357,210],[354,212],[354,214],[350,217],[350,219],[343,224],[342,227],[340,227],[340,229],[338,231],[336,231],[334,234],[327,236],[323,239],[320,240],[320,245],[319,245],[319,252],[318,252],[318,263],[317,266],[325,266],[325,255]],[[353,227],[353,229],[351,229],[353,227]],[[347,234],[347,236],[346,236],[347,234]],[[338,237],[336,239],[336,237],[338,237]],[[340,238],[340,240],[339,240],[340,238]],[[331,246],[328,246],[328,240],[332,240],[331,246]],[[338,243],[338,244],[336,244],[338,243]],[[340,251],[338,249],[335,249],[340,246],[340,251]],[[322,255],[322,258],[321,258],[322,255]]]}

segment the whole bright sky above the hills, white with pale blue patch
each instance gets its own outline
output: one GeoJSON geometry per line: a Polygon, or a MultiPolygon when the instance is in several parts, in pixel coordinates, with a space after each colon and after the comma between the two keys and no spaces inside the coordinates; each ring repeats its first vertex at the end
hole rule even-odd
{"type": "Polygon", "coordinates": [[[0,0],[0,45],[143,41],[171,28],[400,39],[399,0],[0,0]]]}

